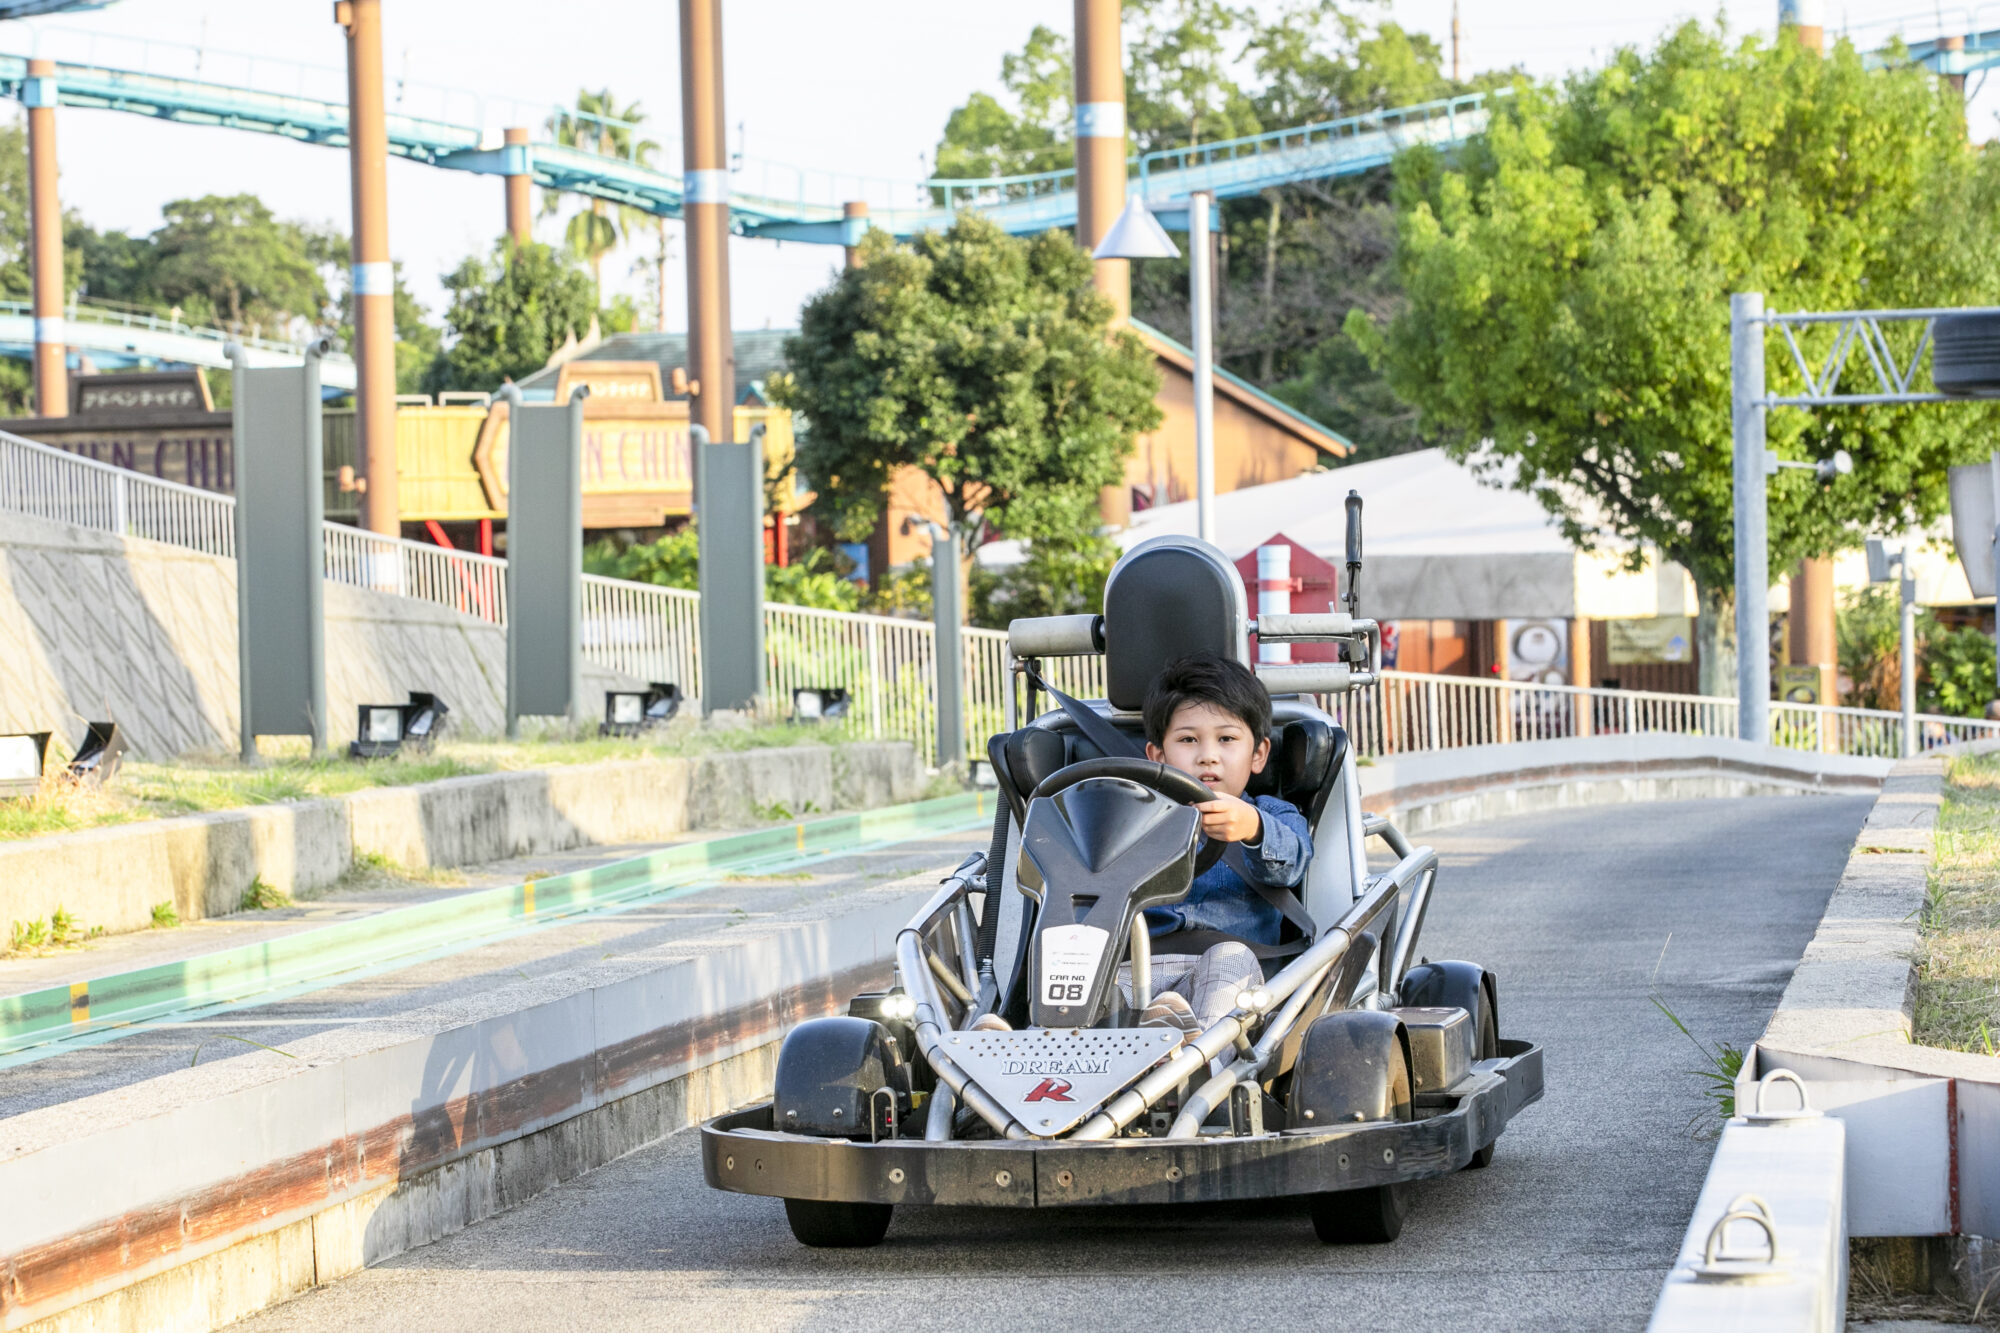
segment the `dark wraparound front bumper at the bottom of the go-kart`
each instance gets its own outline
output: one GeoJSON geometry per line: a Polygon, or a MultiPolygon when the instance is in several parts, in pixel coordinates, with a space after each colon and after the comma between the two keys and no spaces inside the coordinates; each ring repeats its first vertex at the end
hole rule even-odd
{"type": "Polygon", "coordinates": [[[816,1139],[770,1127],[770,1103],[702,1125],[716,1189],[780,1199],[1076,1207],[1316,1195],[1458,1171],[1516,1111],[1542,1097],[1542,1049],[1502,1041],[1456,1103],[1420,1121],[1202,1139],[816,1139]]]}

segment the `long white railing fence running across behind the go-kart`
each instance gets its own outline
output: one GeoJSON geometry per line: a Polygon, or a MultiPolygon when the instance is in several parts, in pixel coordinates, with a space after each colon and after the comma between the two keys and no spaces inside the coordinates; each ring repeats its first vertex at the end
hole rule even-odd
{"type": "MultiPolygon", "coordinates": [[[[236,556],[236,500],[68,454],[0,432],[0,510],[100,532],[236,556]]],[[[416,596],[506,624],[506,560],[326,524],[326,578],[416,596]]],[[[648,582],[584,576],[584,656],[644,681],[672,681],[700,697],[700,594],[648,582]]],[[[1002,630],[964,628],[968,757],[1014,719],[1002,630]]],[[[912,741],[934,759],[936,632],[928,620],[764,604],[764,693],[844,689],[848,719],[870,739],[912,741]]],[[[1102,658],[1052,658],[1044,675],[1064,693],[1102,697],[1102,658]]],[[[1528,685],[1388,671],[1374,689],[1320,701],[1362,755],[1400,755],[1508,741],[1674,733],[1734,737],[1736,701],[1570,685],[1528,685]]],[[[1798,751],[1896,757],[1896,713],[1772,703],[1772,743],[1798,751]]],[[[1918,745],[2000,737],[2000,723],[1918,715],[1918,745]]]]}

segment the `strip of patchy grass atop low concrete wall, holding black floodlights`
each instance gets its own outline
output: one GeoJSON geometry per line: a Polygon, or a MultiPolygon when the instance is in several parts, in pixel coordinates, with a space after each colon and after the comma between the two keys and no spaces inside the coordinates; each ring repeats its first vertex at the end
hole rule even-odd
{"type": "Polygon", "coordinates": [[[410,787],[476,773],[588,765],[604,759],[670,759],[780,745],[834,745],[852,729],[772,723],[762,727],[676,725],[648,737],[598,737],[592,729],[548,727],[522,741],[444,739],[430,755],[396,759],[314,759],[304,739],[266,743],[258,765],[188,757],[168,765],[128,763],[110,787],[72,787],[54,777],[68,757],[50,755],[52,777],[28,799],[0,801],[0,841],[100,829],[138,819],[232,811],[246,805],[344,797],[366,787],[410,787]],[[60,763],[58,763],[60,759],[60,763]]]}

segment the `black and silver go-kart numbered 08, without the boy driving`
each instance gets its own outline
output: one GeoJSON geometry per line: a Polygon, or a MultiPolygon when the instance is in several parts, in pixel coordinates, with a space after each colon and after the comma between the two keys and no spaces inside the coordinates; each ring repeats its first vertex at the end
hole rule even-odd
{"type": "Polygon", "coordinates": [[[1246,610],[1210,544],[1162,536],[1112,568],[1100,616],[1016,620],[1016,671],[1058,707],[988,745],[1006,797],[902,929],[896,977],[844,1017],[794,1027],[772,1101],[702,1127],[708,1183],[784,1199],[806,1245],[876,1245],[896,1205],[1078,1207],[1306,1195],[1322,1241],[1392,1241],[1412,1181],[1492,1161],[1542,1095],[1542,1053],[1500,1037],[1492,973],[1418,961],[1438,857],[1364,815],[1356,759],[1314,695],[1372,685],[1380,628],[1348,612],[1246,610]],[[1140,1027],[1152,957],[1206,939],[1148,933],[1226,849],[1204,843],[1196,779],[1140,755],[1138,709],[1176,656],[1250,662],[1250,634],[1338,642],[1334,662],[1262,664],[1272,755],[1250,787],[1312,827],[1308,883],[1278,903],[1262,985],[1206,1031],[1140,1027]],[[1106,699],[1042,679],[1102,656],[1106,699]],[[1368,869],[1366,841],[1396,857],[1368,869]],[[1128,987],[1120,965],[1130,965],[1128,987]]]}

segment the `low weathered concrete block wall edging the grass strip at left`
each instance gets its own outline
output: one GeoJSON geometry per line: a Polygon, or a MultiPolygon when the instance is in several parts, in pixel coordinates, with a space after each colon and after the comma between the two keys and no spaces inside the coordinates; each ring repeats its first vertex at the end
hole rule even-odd
{"type": "Polygon", "coordinates": [[[490,773],[64,833],[0,843],[0,923],[46,921],[62,907],[84,929],[144,931],[156,903],[174,903],[182,921],[220,917],[252,879],[310,895],[366,855],[444,869],[654,843],[914,801],[922,781],[900,741],[808,745],[490,773]]]}

